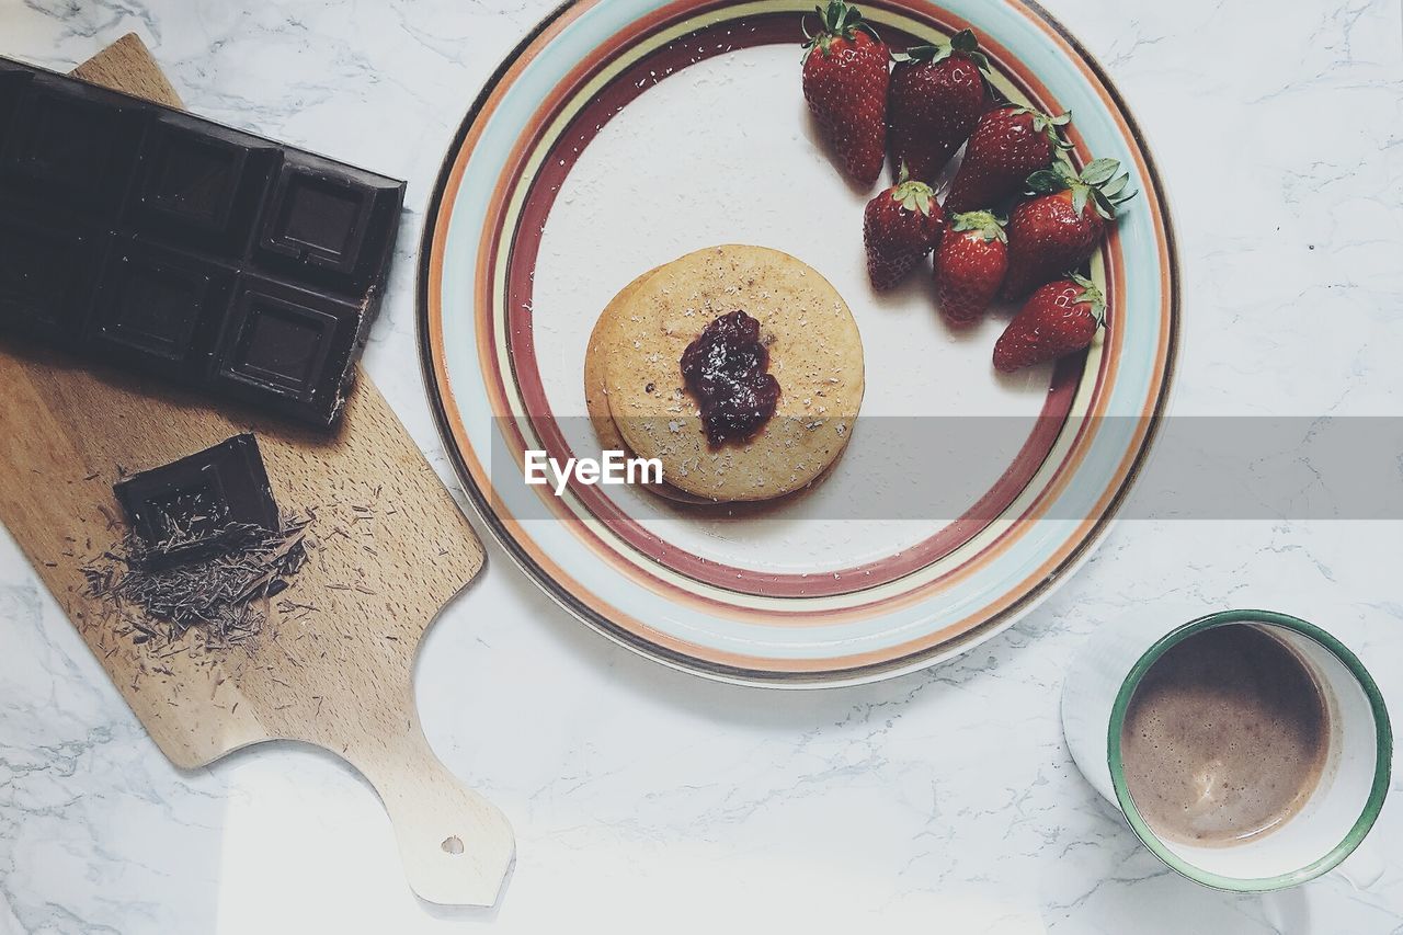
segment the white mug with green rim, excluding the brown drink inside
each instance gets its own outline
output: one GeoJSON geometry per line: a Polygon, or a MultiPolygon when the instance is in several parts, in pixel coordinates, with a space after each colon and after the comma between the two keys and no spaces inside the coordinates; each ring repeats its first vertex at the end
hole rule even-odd
{"type": "Polygon", "coordinates": [[[1188,623],[1141,612],[1101,626],[1068,670],[1062,730],[1078,768],[1145,847],[1191,880],[1239,893],[1303,883],[1350,856],[1383,807],[1393,758],[1383,696],[1358,657],[1319,626],[1271,611],[1222,611],[1188,623]],[[1135,809],[1121,764],[1121,726],[1131,695],[1160,656],[1228,623],[1268,628],[1310,668],[1330,723],[1326,769],[1305,806],[1270,834],[1218,847],[1180,844],[1157,837],[1135,809]]]}

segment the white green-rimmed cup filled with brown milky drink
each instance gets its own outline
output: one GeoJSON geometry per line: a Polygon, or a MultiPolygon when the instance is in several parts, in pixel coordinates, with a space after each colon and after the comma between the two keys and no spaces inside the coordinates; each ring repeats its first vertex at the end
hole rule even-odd
{"type": "MultiPolygon", "coordinates": [[[[1277,890],[1337,868],[1389,789],[1388,709],[1364,664],[1273,611],[1187,623],[1145,612],[1097,629],[1068,670],[1062,727],[1145,847],[1221,890],[1277,890]]],[[[1364,852],[1351,866],[1364,868],[1358,886],[1382,872],[1364,852]]]]}

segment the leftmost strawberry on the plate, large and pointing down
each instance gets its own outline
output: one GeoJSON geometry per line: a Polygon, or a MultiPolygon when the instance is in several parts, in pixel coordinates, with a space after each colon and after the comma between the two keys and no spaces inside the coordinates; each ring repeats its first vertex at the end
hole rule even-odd
{"type": "Polygon", "coordinates": [[[871,185],[885,159],[890,52],[857,7],[815,10],[824,29],[804,46],[804,100],[847,174],[871,185]]]}

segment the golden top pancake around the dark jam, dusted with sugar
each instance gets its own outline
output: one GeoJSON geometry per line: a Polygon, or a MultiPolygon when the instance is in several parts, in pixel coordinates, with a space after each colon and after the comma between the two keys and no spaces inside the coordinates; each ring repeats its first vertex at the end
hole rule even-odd
{"type": "Polygon", "coordinates": [[[863,399],[861,338],[842,296],[800,260],[739,244],[699,250],[647,274],[610,319],[599,336],[609,413],[669,484],[717,501],[769,500],[811,483],[847,445],[863,399]],[[735,310],[760,323],[780,399],[749,441],[711,448],[680,361],[702,329],[735,310]]]}

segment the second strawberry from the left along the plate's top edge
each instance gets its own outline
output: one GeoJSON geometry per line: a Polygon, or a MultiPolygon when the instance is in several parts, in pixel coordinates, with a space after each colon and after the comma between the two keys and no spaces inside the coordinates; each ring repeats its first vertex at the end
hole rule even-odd
{"type": "Polygon", "coordinates": [[[984,73],[989,59],[979,41],[961,29],[950,42],[918,45],[892,56],[887,93],[887,147],[892,170],[933,183],[964,146],[989,105],[984,73]]]}

